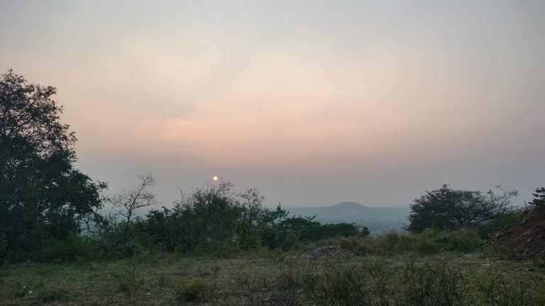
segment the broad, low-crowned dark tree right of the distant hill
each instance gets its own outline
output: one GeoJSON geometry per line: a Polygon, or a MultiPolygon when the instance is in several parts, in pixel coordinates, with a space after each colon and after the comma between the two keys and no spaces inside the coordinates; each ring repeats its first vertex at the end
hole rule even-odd
{"type": "Polygon", "coordinates": [[[444,185],[414,200],[409,215],[409,232],[424,229],[458,229],[476,227],[512,211],[511,199],[517,191],[507,191],[497,186],[500,193],[493,191],[453,190],[444,185]]]}

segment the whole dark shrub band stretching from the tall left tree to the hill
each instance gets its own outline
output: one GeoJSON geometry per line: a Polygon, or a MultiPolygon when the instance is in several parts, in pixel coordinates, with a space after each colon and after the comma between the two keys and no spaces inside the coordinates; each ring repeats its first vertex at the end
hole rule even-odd
{"type": "MultiPolygon", "coordinates": [[[[252,249],[287,251],[319,239],[369,234],[366,227],[358,225],[322,225],[314,217],[287,217],[280,205],[275,210],[266,208],[255,189],[236,195],[231,187],[223,182],[198,188],[173,208],[150,210],[146,217],[119,221],[116,206],[107,213],[94,212],[87,219],[84,235],[44,239],[35,246],[33,256],[21,259],[120,259],[150,251],[229,258],[252,249]]],[[[0,239],[0,255],[9,251],[0,239]]]]}

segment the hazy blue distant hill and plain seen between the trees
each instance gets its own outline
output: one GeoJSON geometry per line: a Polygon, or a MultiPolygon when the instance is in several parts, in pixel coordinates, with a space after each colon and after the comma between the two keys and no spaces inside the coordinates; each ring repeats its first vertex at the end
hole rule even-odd
{"type": "Polygon", "coordinates": [[[366,226],[374,235],[385,232],[402,232],[408,223],[409,206],[378,207],[365,206],[356,202],[343,202],[331,206],[290,208],[289,215],[313,217],[321,223],[349,222],[366,226]]]}

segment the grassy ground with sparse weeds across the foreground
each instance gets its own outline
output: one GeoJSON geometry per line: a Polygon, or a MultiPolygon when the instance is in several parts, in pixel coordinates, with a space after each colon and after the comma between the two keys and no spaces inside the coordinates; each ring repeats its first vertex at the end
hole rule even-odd
{"type": "Polygon", "coordinates": [[[0,305],[545,305],[542,263],[301,254],[0,266],[0,305]]]}

